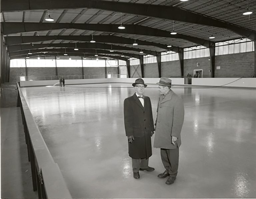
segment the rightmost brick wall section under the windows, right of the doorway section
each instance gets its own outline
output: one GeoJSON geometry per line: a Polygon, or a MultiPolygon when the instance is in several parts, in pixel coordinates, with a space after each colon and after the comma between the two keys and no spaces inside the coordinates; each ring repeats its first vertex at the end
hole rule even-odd
{"type": "Polygon", "coordinates": [[[253,77],[254,59],[254,52],[215,56],[215,77],[253,77]],[[219,70],[217,66],[220,66],[219,70]]]}

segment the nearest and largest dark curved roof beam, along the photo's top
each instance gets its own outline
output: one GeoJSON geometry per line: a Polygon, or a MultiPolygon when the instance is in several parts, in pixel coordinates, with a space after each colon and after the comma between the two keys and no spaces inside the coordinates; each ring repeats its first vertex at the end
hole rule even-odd
{"type": "Polygon", "coordinates": [[[214,26],[231,30],[243,37],[256,40],[256,32],[246,29],[232,23],[218,20],[200,13],[192,12],[174,6],[162,6],[141,3],[125,3],[116,1],[74,1],[69,0],[2,0],[1,11],[23,11],[23,10],[42,10],[42,9],[73,9],[73,8],[95,8],[100,10],[109,10],[114,12],[129,13],[146,17],[154,17],[166,20],[175,20],[187,23],[200,24],[205,26],[214,26]],[[170,14],[171,13],[171,14],[170,14]]]}

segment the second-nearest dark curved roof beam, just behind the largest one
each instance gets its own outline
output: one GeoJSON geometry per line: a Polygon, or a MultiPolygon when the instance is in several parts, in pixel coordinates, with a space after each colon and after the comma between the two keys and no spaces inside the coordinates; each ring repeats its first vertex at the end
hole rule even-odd
{"type": "Polygon", "coordinates": [[[159,30],[140,25],[125,25],[123,30],[118,29],[119,25],[115,24],[81,24],[81,23],[33,23],[33,22],[3,22],[2,31],[4,35],[14,33],[24,33],[44,30],[58,30],[58,29],[80,29],[90,31],[100,31],[109,33],[133,34],[152,37],[166,37],[184,39],[195,44],[200,44],[209,47],[209,40],[200,39],[188,35],[176,34],[171,35],[169,31],[159,30]]]}

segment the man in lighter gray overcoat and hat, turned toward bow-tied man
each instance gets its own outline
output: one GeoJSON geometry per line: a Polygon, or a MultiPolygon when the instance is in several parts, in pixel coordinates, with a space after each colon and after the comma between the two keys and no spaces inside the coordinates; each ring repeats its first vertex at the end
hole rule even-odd
{"type": "Polygon", "coordinates": [[[165,168],[165,171],[160,173],[158,177],[169,176],[165,183],[172,184],[178,173],[184,104],[182,98],[171,90],[172,80],[162,77],[157,84],[160,97],[155,123],[154,147],[161,148],[161,159],[165,168]]]}

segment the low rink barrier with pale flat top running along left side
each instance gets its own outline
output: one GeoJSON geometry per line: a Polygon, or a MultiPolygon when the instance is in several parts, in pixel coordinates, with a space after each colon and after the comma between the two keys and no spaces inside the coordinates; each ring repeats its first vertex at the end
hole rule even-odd
{"type": "Polygon", "coordinates": [[[53,157],[39,131],[28,104],[17,82],[22,123],[28,151],[28,160],[31,165],[33,191],[38,192],[38,198],[65,198],[72,199],[60,168],[53,157]]]}

